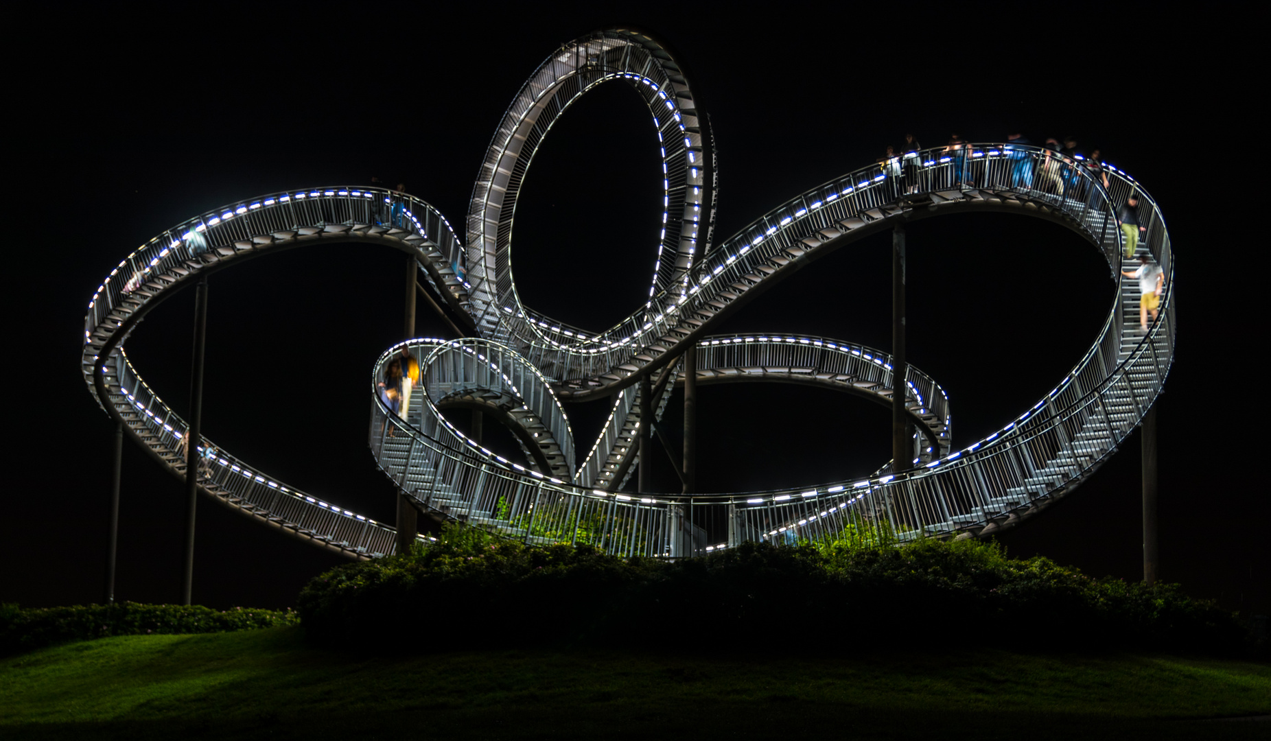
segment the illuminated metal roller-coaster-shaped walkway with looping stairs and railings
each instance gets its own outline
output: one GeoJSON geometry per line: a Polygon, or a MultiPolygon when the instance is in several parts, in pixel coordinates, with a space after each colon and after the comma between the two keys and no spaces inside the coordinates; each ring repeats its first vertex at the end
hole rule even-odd
{"type": "MultiPolygon", "coordinates": [[[[591,543],[610,553],[681,557],[744,540],[791,541],[886,530],[896,540],[984,535],[1045,508],[1089,477],[1141,421],[1174,352],[1173,255],[1157,202],[1106,165],[1108,186],[1047,150],[976,144],[919,153],[913,167],[871,165],[807,191],[712,244],[714,151],[680,66],[656,41],[608,31],[561,47],[517,93],[483,160],[466,245],[431,206],[379,188],[272,193],[184,221],[135,250],[93,295],[81,371],[128,436],[175,475],[188,472],[187,423],[141,380],[125,342],[146,313],[201,276],[318,243],[386,244],[413,255],[426,282],[474,337],[412,339],[389,348],[371,376],[370,446],[421,510],[482,524],[527,543],[591,543]],[[630,84],[649,107],[663,161],[663,228],[648,301],[604,332],[525,308],[512,280],[516,194],[539,142],[592,86],[630,84]],[[1059,175],[1049,177],[1049,175],[1059,175]],[[1047,177],[1042,177],[1047,175],[1047,177]],[[1055,184],[1063,183],[1061,192],[1055,184]],[[1043,184],[1046,187],[1043,187],[1043,184]],[[1116,207],[1139,198],[1139,253],[1164,275],[1160,318],[1139,329],[1139,286],[1121,269],[1116,207]],[[813,261],[891,229],[944,214],[1023,214],[1064,225],[1099,249],[1116,291],[1089,350],[1054,390],[1002,430],[956,449],[944,390],[909,366],[905,411],[914,460],[876,474],[788,489],[624,493],[639,456],[639,381],[661,417],[698,347],[697,381],[798,383],[891,404],[891,358],[850,342],[798,334],[709,336],[719,320],[813,261]],[[402,352],[421,364],[405,418],[376,393],[402,352]],[[614,399],[582,460],[562,402],[614,399]],[[512,428],[525,452],[507,460],[444,416],[479,408],[512,428]]],[[[244,515],[339,553],[393,553],[395,531],[309,496],[203,438],[200,491],[244,515]]]]}

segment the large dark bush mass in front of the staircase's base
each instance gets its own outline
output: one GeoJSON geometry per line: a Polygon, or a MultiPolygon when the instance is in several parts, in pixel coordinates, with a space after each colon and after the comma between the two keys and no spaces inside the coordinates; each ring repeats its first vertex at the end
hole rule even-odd
{"type": "Polygon", "coordinates": [[[977,540],[747,543],[667,562],[451,527],[408,555],[323,573],[301,591],[297,611],[311,639],[395,649],[643,643],[732,652],[754,651],[760,637],[774,649],[811,642],[822,653],[1248,649],[1234,614],[1178,585],[1091,578],[977,540]]]}

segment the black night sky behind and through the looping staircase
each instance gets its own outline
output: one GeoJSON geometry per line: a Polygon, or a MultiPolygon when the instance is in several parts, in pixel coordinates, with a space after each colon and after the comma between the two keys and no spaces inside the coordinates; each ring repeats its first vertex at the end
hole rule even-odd
{"type": "MultiPolygon", "coordinates": [[[[533,22],[516,10],[421,4],[89,13],[36,24],[11,98],[23,103],[11,112],[22,133],[10,139],[8,221],[18,233],[8,243],[17,290],[6,296],[0,600],[100,599],[113,423],[81,381],[78,343],[93,291],[121,258],[208,208],[371,177],[404,182],[460,225],[494,126],[530,72],[562,42],[634,25],[674,51],[710,116],[717,241],[872,163],[906,131],[924,146],[952,132],[970,141],[1013,130],[1035,142],[1073,135],[1134,174],[1164,211],[1179,281],[1177,360],[1159,402],[1160,573],[1230,609],[1271,611],[1271,520],[1256,468],[1266,460],[1263,384],[1247,365],[1252,351],[1238,350],[1266,337],[1265,310],[1243,309],[1256,291],[1239,285],[1243,258],[1223,254],[1253,214],[1220,207],[1239,198],[1235,187],[1196,198],[1199,182],[1238,178],[1252,163],[1195,146],[1243,133],[1249,100],[1238,85],[1248,67],[1232,52],[1188,46],[1197,28],[1209,38],[1204,22],[1127,15],[1065,27],[1019,13],[942,19],[850,4],[751,17],[559,8],[533,22]],[[1118,38],[1134,38],[1132,48],[1118,38]]],[[[592,330],[634,310],[657,249],[660,179],[656,132],[629,88],[605,84],[577,103],[521,192],[512,266],[526,304],[592,330]]],[[[888,249],[886,234],[843,248],[714,332],[797,332],[888,350],[888,249]]],[[[391,522],[393,488],[371,459],[366,425],[371,364],[402,334],[400,282],[399,252],[358,244],[216,273],[205,435],[280,480],[391,522]]],[[[1010,215],[910,225],[907,290],[910,362],[948,390],[955,446],[1046,394],[1113,297],[1092,245],[1010,215]]],[[[126,346],[183,416],[192,324],[186,291],[126,346]]],[[[416,327],[450,337],[423,304],[416,327]]],[[[890,412],[863,399],[789,385],[699,394],[702,491],[844,479],[890,456],[890,412]]],[[[583,451],[608,407],[567,405],[583,451]]],[[[655,454],[657,487],[677,489],[655,454]]],[[[1139,466],[1135,433],[1075,493],[1000,541],[1012,554],[1140,578],[1139,466]]],[[[126,442],[117,599],[179,599],[183,508],[184,486],[126,442]]],[[[306,580],[338,563],[200,503],[196,602],[292,605],[306,580]]]]}

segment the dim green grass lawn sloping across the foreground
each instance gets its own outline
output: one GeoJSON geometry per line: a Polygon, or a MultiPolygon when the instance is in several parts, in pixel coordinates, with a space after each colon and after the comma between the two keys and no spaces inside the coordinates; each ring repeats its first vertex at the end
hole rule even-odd
{"type": "MultiPolygon", "coordinates": [[[[1271,714],[1263,663],[994,648],[819,657],[834,639],[756,634],[712,658],[498,648],[389,658],[314,648],[297,628],[107,638],[0,660],[0,737],[1271,736],[1265,721],[1199,721],[1271,714]]],[[[656,642],[653,629],[632,636],[656,642]]]]}

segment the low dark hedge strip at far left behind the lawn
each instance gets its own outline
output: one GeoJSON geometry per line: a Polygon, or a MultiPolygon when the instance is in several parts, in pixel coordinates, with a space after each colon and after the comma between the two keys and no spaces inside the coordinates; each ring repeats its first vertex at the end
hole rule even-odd
{"type": "Polygon", "coordinates": [[[0,656],[107,636],[221,633],[297,623],[299,616],[292,610],[212,610],[198,605],[137,602],[24,610],[6,602],[0,605],[0,656]]]}

